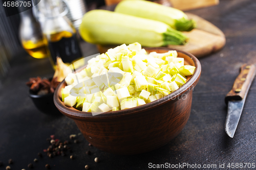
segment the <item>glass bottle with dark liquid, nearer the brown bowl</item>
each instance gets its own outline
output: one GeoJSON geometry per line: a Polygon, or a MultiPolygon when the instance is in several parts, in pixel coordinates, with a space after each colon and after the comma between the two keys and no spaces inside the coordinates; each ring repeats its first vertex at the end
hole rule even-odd
{"type": "MultiPolygon", "coordinates": [[[[53,67],[55,68],[57,57],[60,57],[64,63],[73,63],[79,60],[82,53],[77,32],[72,22],[65,16],[67,9],[63,11],[62,1],[45,0],[38,5],[39,11],[44,15],[42,32],[53,67]]],[[[83,64],[80,63],[80,65],[83,64]]],[[[80,65],[77,65],[76,68],[80,65]]]]}

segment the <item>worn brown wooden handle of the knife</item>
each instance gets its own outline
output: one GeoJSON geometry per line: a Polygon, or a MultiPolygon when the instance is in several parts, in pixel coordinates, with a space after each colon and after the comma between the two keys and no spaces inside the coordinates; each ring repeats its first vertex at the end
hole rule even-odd
{"type": "Polygon", "coordinates": [[[255,77],[255,66],[253,64],[243,64],[241,66],[240,74],[234,81],[233,88],[227,93],[225,103],[228,101],[241,101],[247,95],[250,85],[255,77]]]}

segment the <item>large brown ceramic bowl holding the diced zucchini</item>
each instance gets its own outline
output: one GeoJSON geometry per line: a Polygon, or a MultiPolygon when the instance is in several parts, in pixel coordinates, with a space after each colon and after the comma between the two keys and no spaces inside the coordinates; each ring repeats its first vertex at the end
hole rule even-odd
{"type": "MultiPolygon", "coordinates": [[[[147,48],[147,52],[166,53],[169,48],[147,48]]],[[[201,64],[186,52],[177,50],[185,64],[196,66],[193,76],[165,98],[131,109],[92,116],[67,107],[61,102],[62,81],[54,93],[54,103],[65,116],[72,118],[83,136],[96,148],[114,154],[132,155],[155,150],[176,137],[187,123],[193,88],[199,81],[201,64]]]]}

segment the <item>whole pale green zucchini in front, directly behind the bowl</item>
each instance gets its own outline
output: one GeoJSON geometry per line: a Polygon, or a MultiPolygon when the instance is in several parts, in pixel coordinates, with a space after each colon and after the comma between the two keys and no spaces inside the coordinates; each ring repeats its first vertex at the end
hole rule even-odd
{"type": "Polygon", "coordinates": [[[187,37],[163,22],[106,10],[87,12],[79,27],[81,37],[97,44],[165,46],[185,44],[187,37]]]}

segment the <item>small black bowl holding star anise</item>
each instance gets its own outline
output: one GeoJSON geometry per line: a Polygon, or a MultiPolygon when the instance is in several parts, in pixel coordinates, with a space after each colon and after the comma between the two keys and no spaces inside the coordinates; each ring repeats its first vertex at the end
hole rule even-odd
{"type": "Polygon", "coordinates": [[[53,95],[54,93],[38,95],[34,91],[29,90],[29,96],[38,110],[48,115],[62,115],[54,105],[53,95]]]}

